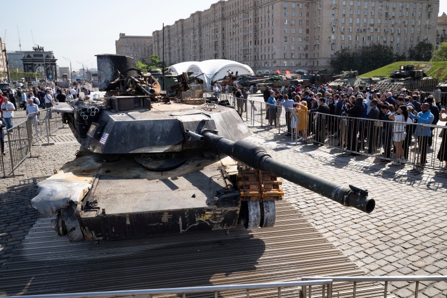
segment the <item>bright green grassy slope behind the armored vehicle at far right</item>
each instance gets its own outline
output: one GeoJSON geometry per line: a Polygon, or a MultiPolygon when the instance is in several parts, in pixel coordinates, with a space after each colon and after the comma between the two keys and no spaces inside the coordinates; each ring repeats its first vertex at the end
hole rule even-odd
{"type": "Polygon", "coordinates": [[[399,69],[401,65],[413,64],[418,70],[423,70],[427,75],[438,77],[440,82],[447,80],[447,61],[441,62],[419,62],[419,61],[401,61],[388,64],[387,66],[373,70],[372,72],[361,74],[359,76],[388,76],[393,71],[399,69]]]}

